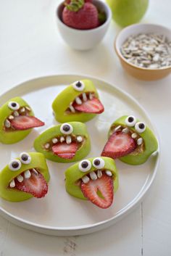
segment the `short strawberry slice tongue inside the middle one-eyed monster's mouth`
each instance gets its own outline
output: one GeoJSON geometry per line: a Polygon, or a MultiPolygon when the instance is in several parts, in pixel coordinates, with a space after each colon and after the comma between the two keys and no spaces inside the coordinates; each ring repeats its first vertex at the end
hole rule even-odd
{"type": "Polygon", "coordinates": [[[62,142],[52,146],[54,154],[57,154],[58,157],[62,157],[64,159],[72,159],[77,150],[78,144],[76,142],[72,142],[71,144],[62,142]]]}

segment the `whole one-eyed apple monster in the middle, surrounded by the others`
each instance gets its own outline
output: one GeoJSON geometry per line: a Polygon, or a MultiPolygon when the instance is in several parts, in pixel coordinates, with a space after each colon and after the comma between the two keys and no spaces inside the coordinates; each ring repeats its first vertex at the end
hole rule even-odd
{"type": "Polygon", "coordinates": [[[41,133],[34,142],[36,151],[54,162],[75,162],[91,150],[86,125],[80,122],[63,123],[41,133]]]}

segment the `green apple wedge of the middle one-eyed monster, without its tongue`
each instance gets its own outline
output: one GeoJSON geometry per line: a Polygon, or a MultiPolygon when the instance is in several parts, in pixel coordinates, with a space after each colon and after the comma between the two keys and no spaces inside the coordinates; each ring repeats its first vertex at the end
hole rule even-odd
{"type": "Polygon", "coordinates": [[[47,159],[54,162],[76,162],[83,159],[83,157],[86,157],[91,150],[91,141],[86,125],[80,122],[64,123],[63,125],[56,125],[41,133],[41,135],[34,141],[36,151],[41,152],[47,159]],[[60,137],[62,136],[64,137],[64,141],[66,141],[67,134],[64,134],[64,132],[61,131],[61,128],[63,125],[67,124],[72,127],[72,132],[69,134],[72,137],[72,141],[77,141],[78,136],[83,138],[83,141],[77,142],[79,147],[72,159],[59,157],[57,154],[54,154],[51,149],[52,146],[54,146],[52,139],[56,138],[58,140],[57,143],[61,144],[60,137]],[[46,149],[46,144],[50,144],[49,149],[46,149]]]}

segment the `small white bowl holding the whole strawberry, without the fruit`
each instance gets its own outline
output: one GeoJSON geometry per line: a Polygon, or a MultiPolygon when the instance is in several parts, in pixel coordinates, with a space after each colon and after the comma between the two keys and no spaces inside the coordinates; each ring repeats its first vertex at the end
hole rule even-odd
{"type": "Polygon", "coordinates": [[[64,25],[64,23],[62,22],[62,9],[64,8],[64,4],[61,3],[57,7],[57,25],[59,31],[64,41],[69,44],[70,47],[72,47],[73,49],[91,49],[99,44],[99,42],[104,38],[104,35],[107,33],[109,23],[112,19],[112,12],[109,6],[103,1],[93,0],[93,4],[96,5],[99,10],[105,12],[107,20],[98,28],[93,28],[89,30],[78,30],[64,25]]]}

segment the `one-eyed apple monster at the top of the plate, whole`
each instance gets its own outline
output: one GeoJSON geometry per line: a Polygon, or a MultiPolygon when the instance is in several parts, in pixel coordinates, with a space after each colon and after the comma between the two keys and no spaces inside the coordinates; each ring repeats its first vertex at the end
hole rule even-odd
{"type": "Polygon", "coordinates": [[[79,80],[62,91],[52,104],[54,115],[60,123],[91,120],[104,112],[98,92],[91,80],[79,80]]]}

